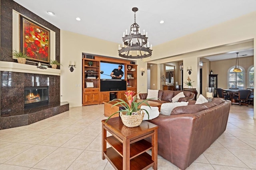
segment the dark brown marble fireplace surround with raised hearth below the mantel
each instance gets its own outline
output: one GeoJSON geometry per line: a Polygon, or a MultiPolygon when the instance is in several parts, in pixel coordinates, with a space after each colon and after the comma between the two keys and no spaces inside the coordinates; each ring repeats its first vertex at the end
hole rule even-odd
{"type": "Polygon", "coordinates": [[[58,75],[0,71],[0,93],[0,129],[29,125],[69,110],[68,102],[60,102],[58,75]]]}

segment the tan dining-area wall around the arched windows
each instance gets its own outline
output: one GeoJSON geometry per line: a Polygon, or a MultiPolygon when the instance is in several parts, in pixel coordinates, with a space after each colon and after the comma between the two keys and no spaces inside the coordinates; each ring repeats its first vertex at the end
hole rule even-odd
{"type": "MultiPolygon", "coordinates": [[[[240,57],[239,66],[245,69],[245,88],[248,88],[248,68],[253,65],[253,56],[240,57]]],[[[228,89],[228,69],[236,65],[236,59],[212,61],[211,67],[214,74],[218,74],[218,88],[228,89]]]]}

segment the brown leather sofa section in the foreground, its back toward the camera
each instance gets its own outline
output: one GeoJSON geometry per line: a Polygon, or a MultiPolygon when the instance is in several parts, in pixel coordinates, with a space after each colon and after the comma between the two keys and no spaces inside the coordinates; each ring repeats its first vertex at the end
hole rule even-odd
{"type": "MultiPolygon", "coordinates": [[[[158,125],[158,154],[185,170],[226,130],[231,101],[175,107],[170,116],[148,120],[158,125]]],[[[150,138],[147,140],[151,141],[150,138]]]]}

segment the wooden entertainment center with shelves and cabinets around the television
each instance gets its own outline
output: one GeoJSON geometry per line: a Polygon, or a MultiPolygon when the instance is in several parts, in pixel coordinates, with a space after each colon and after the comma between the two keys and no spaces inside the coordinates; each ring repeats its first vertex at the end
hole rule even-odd
{"type": "MultiPolygon", "coordinates": [[[[124,92],[128,90],[137,92],[137,65],[131,64],[131,61],[92,56],[86,58],[86,54],[83,53],[82,58],[82,105],[95,105],[103,102],[110,101],[110,95],[114,95],[117,99],[125,99],[124,92]],[[92,65],[89,65],[89,61],[92,61],[92,65]],[[100,91],[100,62],[122,64],[124,68],[124,80],[126,81],[126,90],[122,91],[100,91]],[[93,77],[91,77],[93,75],[93,77]]],[[[90,63],[91,64],[91,63],[90,63]]],[[[116,67],[117,68],[117,67],[116,67]]],[[[112,68],[115,69],[115,68],[112,68]]],[[[110,73],[109,73],[110,75],[110,73]]],[[[111,77],[110,77],[111,79],[111,77]]]]}

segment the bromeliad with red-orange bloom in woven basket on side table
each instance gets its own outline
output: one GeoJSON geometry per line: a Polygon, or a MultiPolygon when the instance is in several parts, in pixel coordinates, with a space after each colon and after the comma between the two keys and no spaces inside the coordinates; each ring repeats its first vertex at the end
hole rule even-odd
{"type": "MultiPolygon", "coordinates": [[[[148,111],[146,111],[146,109],[139,109],[138,108],[139,105],[141,105],[142,103],[145,103],[146,105],[148,105],[150,107],[150,105],[148,103],[146,103],[146,101],[148,101],[150,99],[145,99],[145,100],[137,103],[136,99],[137,99],[138,94],[135,95],[135,93],[136,93],[135,91],[130,91],[130,90],[126,91],[124,93],[124,95],[127,99],[127,102],[122,99],[113,99],[112,100],[112,101],[116,102],[112,107],[114,107],[116,105],[122,105],[122,107],[124,107],[124,109],[122,111],[117,111],[117,112],[113,113],[112,115],[110,115],[110,117],[112,117],[116,113],[120,112],[120,117],[122,119],[123,124],[126,127],[139,126],[142,123],[142,120],[144,117],[143,111],[145,111],[148,114],[148,111]],[[133,119],[133,120],[131,120],[131,119],[133,119]]],[[[108,117],[108,119],[110,119],[110,117],[108,117]]],[[[108,119],[106,120],[106,122],[108,121],[108,119]]],[[[149,119],[149,114],[148,114],[148,119],[149,119]]]]}

